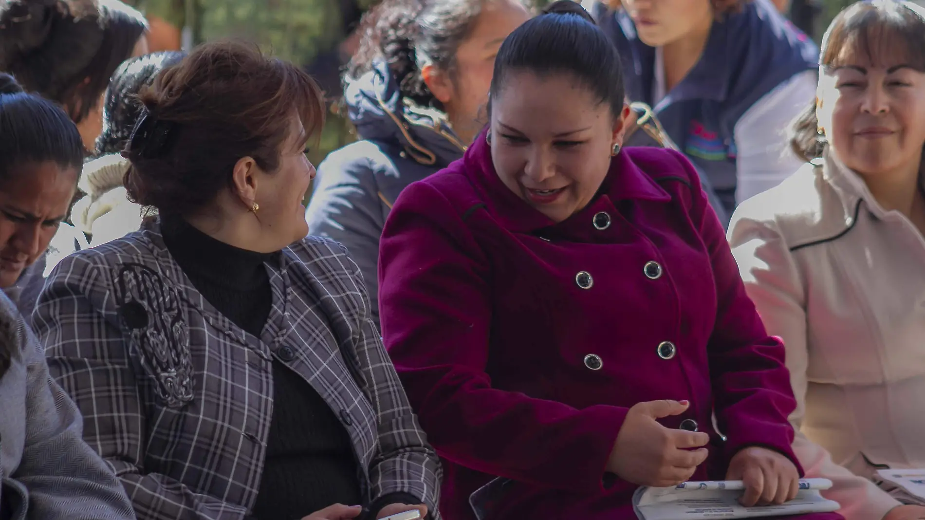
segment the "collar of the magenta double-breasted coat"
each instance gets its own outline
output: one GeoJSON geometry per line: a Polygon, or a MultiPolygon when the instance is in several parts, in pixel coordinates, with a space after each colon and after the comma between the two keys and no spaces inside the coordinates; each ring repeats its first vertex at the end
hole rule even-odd
{"type": "Polygon", "coordinates": [[[491,147],[486,142],[486,133],[487,130],[482,130],[475,138],[462,159],[462,167],[467,177],[475,182],[477,189],[485,196],[501,225],[514,232],[531,233],[549,228],[567,231],[579,222],[579,226],[585,228],[585,221],[590,221],[599,211],[616,211],[613,204],[617,201],[664,203],[672,200],[668,192],[662,190],[655,180],[633,163],[629,154],[623,152],[611,159],[611,169],[598,190],[598,196],[572,217],[556,223],[501,182],[491,160],[491,147]]]}

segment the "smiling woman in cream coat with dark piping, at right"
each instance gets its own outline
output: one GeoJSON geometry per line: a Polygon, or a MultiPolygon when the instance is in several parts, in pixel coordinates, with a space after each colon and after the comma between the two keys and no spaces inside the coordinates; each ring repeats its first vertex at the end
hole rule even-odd
{"type": "Polygon", "coordinates": [[[847,520],[925,518],[877,469],[925,468],[925,19],[859,2],[822,43],[797,122],[809,164],[742,204],[729,238],[796,393],[795,452],[847,520]],[[861,45],[857,45],[860,42],[861,45]]]}

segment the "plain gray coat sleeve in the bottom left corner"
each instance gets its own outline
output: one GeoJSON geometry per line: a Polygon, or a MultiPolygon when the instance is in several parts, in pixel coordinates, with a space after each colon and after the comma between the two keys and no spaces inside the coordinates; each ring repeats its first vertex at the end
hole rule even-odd
{"type": "Polygon", "coordinates": [[[0,292],[0,504],[11,520],[135,517],[116,476],[80,439],[82,426],[39,341],[0,292]]]}

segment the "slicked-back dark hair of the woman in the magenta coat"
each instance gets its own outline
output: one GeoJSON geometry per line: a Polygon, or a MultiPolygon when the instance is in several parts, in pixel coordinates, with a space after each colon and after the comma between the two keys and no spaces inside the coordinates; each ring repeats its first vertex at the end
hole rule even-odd
{"type": "Polygon", "coordinates": [[[501,43],[491,80],[491,99],[514,71],[539,75],[571,74],[601,103],[611,107],[614,118],[623,111],[623,64],[611,40],[598,28],[584,7],[572,0],[558,0],[544,14],[526,21],[501,43]]]}

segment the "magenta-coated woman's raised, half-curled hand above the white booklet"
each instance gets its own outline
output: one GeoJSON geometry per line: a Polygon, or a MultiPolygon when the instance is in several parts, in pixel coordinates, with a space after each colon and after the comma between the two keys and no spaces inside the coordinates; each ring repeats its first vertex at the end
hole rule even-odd
{"type": "Polygon", "coordinates": [[[630,408],[613,444],[607,470],[638,486],[668,488],[685,482],[707,460],[709,435],[661,426],[656,419],[684,414],[682,401],[639,402],[630,408]],[[689,448],[699,448],[689,450],[689,448]]]}

